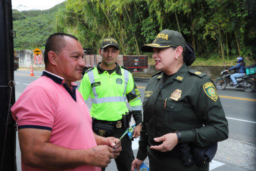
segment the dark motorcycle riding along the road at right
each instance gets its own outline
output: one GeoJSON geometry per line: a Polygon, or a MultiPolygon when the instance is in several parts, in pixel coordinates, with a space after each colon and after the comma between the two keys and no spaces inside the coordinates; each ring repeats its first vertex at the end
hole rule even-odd
{"type": "MultiPolygon", "coordinates": [[[[230,77],[233,73],[229,73],[229,71],[226,70],[227,68],[225,68],[225,70],[222,70],[220,72],[220,75],[222,75],[222,77],[217,78],[215,81],[215,86],[218,90],[224,90],[227,87],[227,84],[229,84],[229,86],[233,86],[234,84],[230,77]]],[[[253,92],[253,90],[255,89],[255,83],[253,81],[252,75],[243,75],[242,77],[238,77],[235,79],[236,81],[238,81],[237,88],[242,88],[244,92],[253,92]]]]}

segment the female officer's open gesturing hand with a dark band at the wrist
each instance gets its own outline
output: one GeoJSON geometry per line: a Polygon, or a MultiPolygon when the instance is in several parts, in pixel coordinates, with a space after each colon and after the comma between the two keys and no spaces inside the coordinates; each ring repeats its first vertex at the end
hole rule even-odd
{"type": "Polygon", "coordinates": [[[151,149],[159,150],[161,152],[170,151],[178,144],[178,137],[176,133],[168,133],[162,137],[155,137],[155,142],[163,142],[159,146],[151,146],[151,149]]]}

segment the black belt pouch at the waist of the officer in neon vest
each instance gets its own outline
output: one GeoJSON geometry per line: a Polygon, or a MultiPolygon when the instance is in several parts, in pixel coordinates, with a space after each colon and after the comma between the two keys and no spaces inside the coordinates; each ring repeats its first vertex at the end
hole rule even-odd
{"type": "Polygon", "coordinates": [[[111,137],[114,133],[114,126],[112,124],[103,124],[95,122],[92,126],[94,133],[102,137],[111,137]]]}

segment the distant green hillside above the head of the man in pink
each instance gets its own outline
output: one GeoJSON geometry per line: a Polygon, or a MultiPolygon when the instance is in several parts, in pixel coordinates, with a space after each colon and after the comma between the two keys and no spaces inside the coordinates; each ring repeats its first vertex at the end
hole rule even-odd
{"type": "Polygon", "coordinates": [[[12,10],[14,49],[44,49],[45,41],[55,32],[55,14],[60,8],[64,8],[64,2],[49,10],[12,10]]]}

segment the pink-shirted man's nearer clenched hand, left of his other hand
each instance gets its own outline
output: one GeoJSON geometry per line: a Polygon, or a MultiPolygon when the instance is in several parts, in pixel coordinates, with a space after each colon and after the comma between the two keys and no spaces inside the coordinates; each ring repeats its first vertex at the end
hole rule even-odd
{"type": "Polygon", "coordinates": [[[106,168],[114,159],[113,150],[110,146],[94,146],[91,148],[93,155],[90,155],[90,164],[93,166],[106,168]]]}

